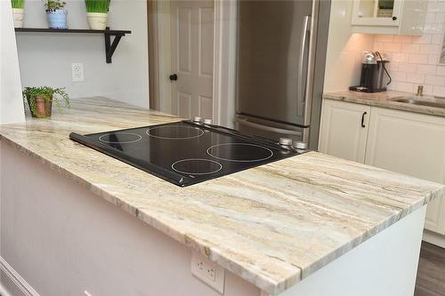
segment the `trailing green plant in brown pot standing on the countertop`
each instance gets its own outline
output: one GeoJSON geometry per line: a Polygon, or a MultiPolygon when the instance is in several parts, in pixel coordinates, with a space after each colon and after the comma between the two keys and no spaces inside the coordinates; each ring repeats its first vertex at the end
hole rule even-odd
{"type": "Polygon", "coordinates": [[[31,116],[37,118],[51,117],[53,101],[57,108],[61,109],[61,101],[69,108],[69,95],[64,88],[53,88],[50,86],[25,87],[23,100],[28,102],[31,116]]]}

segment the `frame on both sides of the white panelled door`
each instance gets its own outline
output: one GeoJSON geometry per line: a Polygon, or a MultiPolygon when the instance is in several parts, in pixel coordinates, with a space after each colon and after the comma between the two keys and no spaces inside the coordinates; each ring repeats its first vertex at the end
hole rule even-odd
{"type": "MultiPolygon", "coordinates": [[[[225,126],[235,115],[236,13],[237,0],[214,0],[213,119],[225,126]]],[[[170,17],[170,1],[147,1],[150,108],[166,113],[172,113],[170,17]]]]}

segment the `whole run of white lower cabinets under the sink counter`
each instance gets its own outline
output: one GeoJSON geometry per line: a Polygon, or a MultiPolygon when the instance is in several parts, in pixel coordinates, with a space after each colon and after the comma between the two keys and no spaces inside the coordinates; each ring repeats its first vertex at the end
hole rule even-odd
{"type": "MultiPolygon", "coordinates": [[[[365,105],[324,100],[320,131],[320,152],[374,165],[393,172],[445,183],[445,117],[428,116],[387,108],[371,107],[366,125],[367,136],[355,143],[355,129],[361,127],[361,119],[344,127],[344,119],[337,120],[332,114],[350,112],[351,105],[365,110],[365,105]],[[343,139],[336,139],[343,128],[343,139]],[[349,140],[344,140],[349,139],[349,140]],[[352,144],[353,143],[353,144],[352,144]],[[360,149],[360,152],[357,150],[360,149]],[[364,158],[357,157],[360,153],[364,158]]],[[[428,205],[425,228],[445,235],[445,196],[428,205]]]]}

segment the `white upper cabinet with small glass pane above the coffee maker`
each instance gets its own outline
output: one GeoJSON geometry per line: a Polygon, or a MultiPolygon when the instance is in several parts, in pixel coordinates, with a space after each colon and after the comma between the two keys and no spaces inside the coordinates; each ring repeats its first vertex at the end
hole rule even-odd
{"type": "Polygon", "coordinates": [[[427,0],[354,0],[352,31],[368,34],[421,36],[427,0]]]}

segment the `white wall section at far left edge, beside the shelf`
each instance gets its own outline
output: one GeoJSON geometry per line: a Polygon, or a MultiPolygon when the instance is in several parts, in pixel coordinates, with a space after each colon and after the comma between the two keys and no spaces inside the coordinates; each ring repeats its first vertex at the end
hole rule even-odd
{"type": "Polygon", "coordinates": [[[11,2],[0,0],[0,124],[24,120],[11,2]]]}

